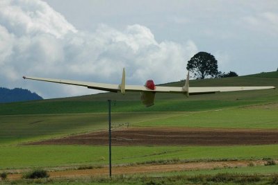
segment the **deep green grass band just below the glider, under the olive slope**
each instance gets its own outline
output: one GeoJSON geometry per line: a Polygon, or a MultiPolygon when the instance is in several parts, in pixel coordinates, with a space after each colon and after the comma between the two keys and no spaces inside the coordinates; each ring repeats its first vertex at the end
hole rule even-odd
{"type": "MultiPolygon", "coordinates": [[[[191,100],[186,98],[181,100],[157,100],[156,105],[152,107],[145,107],[139,101],[117,101],[115,105],[113,105],[112,110],[113,112],[196,112],[209,109],[221,109],[225,107],[270,103],[270,100],[267,97],[264,96],[264,98],[265,100],[256,100],[256,98],[245,98],[242,100],[238,100],[238,98],[235,98],[234,100],[191,100]]],[[[275,98],[271,96],[270,98],[278,100],[278,96],[275,98]]],[[[18,114],[72,114],[96,112],[108,112],[107,101],[38,101],[26,103],[7,103],[0,107],[0,116],[18,114]]]]}

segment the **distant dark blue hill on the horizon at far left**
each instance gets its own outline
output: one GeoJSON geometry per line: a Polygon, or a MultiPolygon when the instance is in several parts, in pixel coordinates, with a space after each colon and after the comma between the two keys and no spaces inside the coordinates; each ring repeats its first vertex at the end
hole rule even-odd
{"type": "Polygon", "coordinates": [[[0,87],[0,103],[42,99],[43,98],[41,96],[38,96],[38,94],[32,93],[27,89],[7,89],[4,87],[0,87]]]}

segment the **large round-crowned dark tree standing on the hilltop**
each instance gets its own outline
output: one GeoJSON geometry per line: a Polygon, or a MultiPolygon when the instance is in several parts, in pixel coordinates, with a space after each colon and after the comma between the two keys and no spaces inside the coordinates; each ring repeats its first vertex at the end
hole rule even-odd
{"type": "Polygon", "coordinates": [[[214,77],[218,76],[218,61],[210,53],[199,52],[188,61],[186,69],[191,71],[195,78],[214,77]]]}

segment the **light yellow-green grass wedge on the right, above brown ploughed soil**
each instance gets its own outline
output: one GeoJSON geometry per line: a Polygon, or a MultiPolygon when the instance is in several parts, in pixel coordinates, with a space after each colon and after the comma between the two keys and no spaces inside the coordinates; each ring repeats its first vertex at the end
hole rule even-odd
{"type": "Polygon", "coordinates": [[[211,128],[261,128],[278,129],[278,106],[276,108],[219,109],[191,112],[169,118],[156,118],[135,123],[136,126],[163,127],[211,127],[211,128]]]}

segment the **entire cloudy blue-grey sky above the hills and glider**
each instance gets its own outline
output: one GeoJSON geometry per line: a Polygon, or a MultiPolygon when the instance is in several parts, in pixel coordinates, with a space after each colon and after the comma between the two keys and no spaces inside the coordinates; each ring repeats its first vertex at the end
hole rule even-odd
{"type": "Polygon", "coordinates": [[[43,98],[100,91],[22,76],[120,84],[186,77],[199,51],[222,72],[278,67],[276,0],[1,0],[0,87],[43,98]]]}

